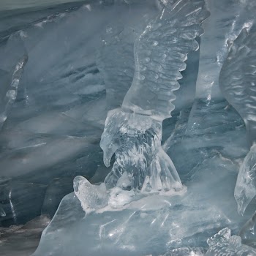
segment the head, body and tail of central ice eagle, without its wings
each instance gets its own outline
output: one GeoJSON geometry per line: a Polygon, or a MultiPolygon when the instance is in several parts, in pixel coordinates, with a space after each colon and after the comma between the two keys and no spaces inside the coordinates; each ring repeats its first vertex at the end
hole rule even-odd
{"type": "Polygon", "coordinates": [[[116,154],[116,162],[105,183],[109,187],[141,192],[182,189],[176,168],[162,149],[161,139],[161,121],[122,109],[111,110],[100,146],[105,165],[110,165],[113,154],[116,154]],[[123,176],[129,181],[122,182],[123,176]]]}

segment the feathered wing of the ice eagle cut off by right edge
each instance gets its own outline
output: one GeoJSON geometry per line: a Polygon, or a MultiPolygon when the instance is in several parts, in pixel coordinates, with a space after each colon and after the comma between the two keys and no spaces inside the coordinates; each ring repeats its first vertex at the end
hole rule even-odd
{"type": "Polygon", "coordinates": [[[243,29],[227,41],[228,55],[219,74],[219,87],[244,121],[256,115],[256,32],[243,29]]]}

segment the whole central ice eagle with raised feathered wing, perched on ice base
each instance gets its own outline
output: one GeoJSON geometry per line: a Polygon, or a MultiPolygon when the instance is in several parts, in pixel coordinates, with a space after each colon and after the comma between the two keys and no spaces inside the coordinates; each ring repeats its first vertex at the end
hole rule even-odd
{"type": "Polygon", "coordinates": [[[205,2],[167,3],[135,41],[135,74],[121,108],[111,110],[105,121],[100,146],[104,162],[116,154],[105,179],[110,187],[142,192],[182,189],[171,159],[161,146],[162,121],[174,109],[187,54],[198,49],[195,37],[203,34],[200,23],[209,15],[205,2]],[[122,177],[126,176],[125,185],[122,177]]]}

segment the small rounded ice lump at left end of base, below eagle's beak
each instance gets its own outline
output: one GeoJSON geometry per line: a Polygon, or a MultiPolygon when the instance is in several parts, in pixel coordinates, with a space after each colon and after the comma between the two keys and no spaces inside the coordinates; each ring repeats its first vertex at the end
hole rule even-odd
{"type": "Polygon", "coordinates": [[[74,192],[86,212],[102,208],[108,204],[107,189],[104,183],[99,186],[92,185],[83,176],[77,176],[74,178],[74,192]]]}

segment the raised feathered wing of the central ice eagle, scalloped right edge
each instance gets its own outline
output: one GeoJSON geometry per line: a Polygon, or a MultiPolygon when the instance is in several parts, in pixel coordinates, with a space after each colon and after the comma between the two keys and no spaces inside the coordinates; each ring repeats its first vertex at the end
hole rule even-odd
{"type": "Polygon", "coordinates": [[[135,42],[135,75],[122,105],[158,120],[174,109],[180,71],[186,68],[187,54],[198,49],[195,37],[203,34],[200,23],[209,15],[204,0],[172,2],[135,42]]]}

